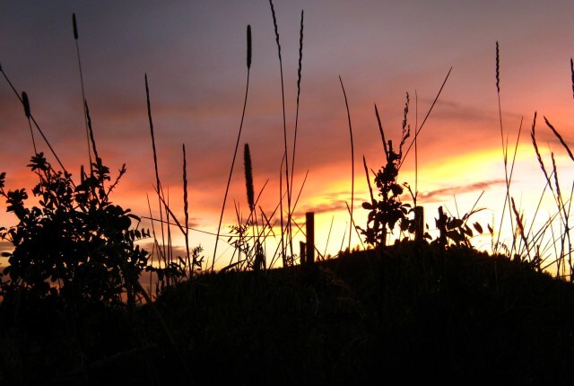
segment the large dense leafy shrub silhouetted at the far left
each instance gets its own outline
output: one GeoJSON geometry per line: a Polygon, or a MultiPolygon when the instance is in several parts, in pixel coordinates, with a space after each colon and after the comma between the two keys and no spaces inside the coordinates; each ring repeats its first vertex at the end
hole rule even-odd
{"type": "Polygon", "coordinates": [[[25,189],[4,190],[5,173],[0,174],[0,195],[19,221],[0,228],[0,237],[14,247],[3,253],[9,258],[0,286],[4,302],[22,296],[59,296],[72,304],[134,302],[138,277],[152,268],[148,253],[134,243],[145,232],[129,230],[139,217],[109,200],[125,165],[111,182],[109,168],[96,158],[89,175],[81,171],[77,186],[42,153],[28,166],[39,178],[32,189],[38,206],[26,206],[25,189]]]}

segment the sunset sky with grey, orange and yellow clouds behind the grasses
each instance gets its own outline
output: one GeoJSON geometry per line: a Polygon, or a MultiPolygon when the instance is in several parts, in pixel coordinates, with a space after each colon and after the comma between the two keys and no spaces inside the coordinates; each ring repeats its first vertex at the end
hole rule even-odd
{"type": "MultiPolygon", "coordinates": [[[[301,10],[305,14],[294,190],[300,189],[307,171],[309,177],[295,219],[302,225],[305,212],[317,213],[319,250],[336,253],[349,228],[345,201],[351,203],[351,149],[339,76],[352,118],[356,224],[364,227],[367,218],[361,208],[368,197],[362,156],[375,171],[383,164],[374,104],[387,138],[398,143],[406,92],[414,130],[452,67],[419,136],[419,204],[425,206],[426,223],[432,230],[438,206],[446,206],[453,215],[458,210],[462,216],[484,191],[478,206],[487,210],[475,221],[486,228],[494,219],[498,230],[504,166],[495,83],[497,41],[502,127],[512,146],[524,119],[511,194],[530,224],[528,211],[544,189],[529,135],[537,110],[537,140],[544,161],[551,164],[553,151],[563,193],[570,195],[574,164],[544,125],[543,116],[569,145],[574,144],[570,74],[574,2],[275,0],[274,8],[282,46],[290,153],[301,10]]],[[[242,162],[245,143],[251,149],[256,192],[269,180],[260,204],[267,214],[273,212],[279,199],[283,113],[268,1],[0,3],[4,73],[19,92],[28,93],[34,118],[65,167],[77,175],[88,156],[73,13],[100,155],[114,172],[126,163],[126,176],[113,201],[136,215],[149,215],[148,194],[157,212],[143,81],[147,74],[163,189],[166,193],[169,189],[170,205],[181,219],[181,146],[185,144],[192,226],[204,232],[217,230],[239,131],[250,24],[253,59],[247,111],[222,230],[227,233],[228,225],[237,223],[234,201],[248,215],[242,162]]],[[[7,188],[30,191],[34,179],[26,168],[33,154],[28,121],[4,77],[0,78],[0,136],[0,171],[7,173],[7,188]]],[[[39,150],[48,154],[44,144],[39,150]]],[[[414,187],[413,155],[408,155],[399,182],[414,187]]],[[[48,160],[56,164],[51,154],[48,160]]],[[[544,222],[554,210],[549,200],[535,220],[544,222]]],[[[1,202],[0,226],[8,224],[13,224],[13,215],[5,213],[1,202]]],[[[216,266],[220,268],[230,261],[226,240],[218,247],[216,266]]],[[[359,242],[353,234],[352,245],[359,242]]],[[[490,237],[476,243],[479,248],[491,248],[490,237]]],[[[201,244],[205,257],[213,258],[213,236],[192,232],[191,244],[201,244]]]]}

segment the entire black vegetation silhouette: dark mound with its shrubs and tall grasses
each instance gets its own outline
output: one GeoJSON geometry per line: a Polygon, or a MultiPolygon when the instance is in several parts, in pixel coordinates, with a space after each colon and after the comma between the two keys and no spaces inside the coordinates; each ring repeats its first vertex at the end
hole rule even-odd
{"type": "MultiPolygon", "coordinates": [[[[270,5],[283,93],[279,34],[273,3],[270,5]]],[[[77,48],[75,15],[73,26],[77,48]]],[[[300,58],[302,38],[301,12],[300,58]]],[[[250,27],[247,64],[249,72],[250,27]]],[[[500,94],[498,43],[496,64],[500,94]]],[[[574,79],[573,62],[570,66],[574,79]]],[[[556,249],[557,276],[570,278],[570,282],[541,270],[547,257],[546,250],[540,253],[539,234],[544,235],[552,224],[544,224],[540,233],[525,232],[524,217],[509,193],[514,161],[508,159],[508,140],[504,140],[501,119],[505,207],[509,217],[514,216],[516,221],[516,225],[512,224],[514,239],[511,248],[506,249],[508,253],[496,254],[499,248],[505,250],[498,241],[493,245],[492,256],[471,247],[469,238],[474,232],[468,221],[480,208],[474,207],[463,218],[446,215],[440,208],[439,238],[431,241],[431,236],[422,234],[424,224],[416,216],[416,183],[412,189],[397,180],[411,145],[414,144],[414,154],[417,152],[414,139],[426,121],[425,118],[421,126],[414,127],[414,139],[408,145],[406,140],[411,136],[407,123],[408,94],[398,146],[393,147],[393,142],[387,140],[375,107],[384,150],[383,166],[377,172],[369,171],[363,157],[370,201],[362,207],[369,214],[364,229],[357,227],[357,230],[373,249],[340,253],[336,259],[322,259],[310,267],[291,265],[292,250],[291,256],[288,255],[283,241],[285,244],[292,241],[295,145],[293,142],[290,171],[283,123],[287,204],[283,208],[283,200],[280,203],[280,213],[286,219],[283,224],[281,216],[280,256],[285,268],[267,269],[274,266],[274,259],[267,266],[260,252],[265,243],[265,226],[262,225],[264,232],[257,236],[253,233],[251,244],[248,242],[249,227],[255,224],[257,228],[257,215],[254,215],[250,155],[245,145],[251,213],[247,222],[238,218],[239,224],[232,229],[237,233],[233,246],[239,251],[238,261],[223,272],[214,273],[214,251],[212,269],[197,274],[203,267],[203,257],[200,247],[190,250],[188,245],[185,145],[182,146],[185,221],[179,224],[162,193],[147,76],[147,110],[156,173],[154,189],[161,208],[159,220],[152,218],[151,213],[149,217],[159,221],[161,228],[161,242],[154,230],[153,241],[155,245],[165,245],[164,224],[173,221],[186,238],[187,250],[185,258],[173,259],[170,251],[166,253],[164,249],[155,264],[153,254],[135,242],[152,237],[149,230],[140,230],[141,217],[110,200],[126,169],[122,167],[112,180],[109,168],[98,154],[85,98],[90,167],[85,171],[82,167],[79,181],[74,181],[31,115],[27,94],[22,92],[20,96],[2,66],[0,73],[22,101],[35,154],[29,167],[39,180],[32,189],[39,198],[39,206],[30,207],[25,189],[4,189],[5,173],[0,173],[0,197],[5,199],[7,212],[18,220],[15,226],[0,227],[0,239],[10,241],[14,247],[13,251],[3,253],[9,265],[0,274],[0,295],[4,299],[0,303],[0,384],[572,383],[574,286],[570,200],[561,198],[553,154],[549,174],[538,152],[536,114],[531,138],[550,187],[553,178],[556,213],[561,220],[561,234],[557,238],[552,236],[551,247],[561,246],[556,249]],[[37,150],[32,128],[42,136],[60,170],[37,150]],[[371,179],[377,196],[373,194],[371,179]],[[404,189],[413,198],[412,206],[402,201],[404,189]],[[387,245],[388,236],[396,234],[393,233],[396,228],[403,241],[387,245]],[[148,273],[157,277],[155,299],[140,283],[140,278],[148,273]]],[[[448,75],[444,83],[447,79],[448,75]]],[[[341,78],[340,81],[344,92],[341,78]]],[[[299,84],[300,64],[297,109],[299,84]]],[[[248,86],[246,102],[247,94],[248,86]]],[[[354,174],[346,95],[344,99],[354,174]]],[[[427,117],[433,106],[434,102],[427,117]]],[[[574,161],[568,145],[547,119],[545,122],[574,161]]],[[[230,177],[241,127],[242,124],[230,177]]],[[[295,133],[296,128],[297,124],[295,133]]],[[[227,189],[229,183],[230,178],[227,189]]],[[[222,215],[226,197],[227,192],[222,215]]],[[[350,224],[352,207],[353,197],[350,224]]],[[[216,240],[220,236],[222,215],[216,240]]],[[[480,224],[472,225],[476,232],[483,233],[480,224]]],[[[488,228],[493,235],[490,225],[488,228]]],[[[351,232],[352,226],[350,235],[351,232]]]]}

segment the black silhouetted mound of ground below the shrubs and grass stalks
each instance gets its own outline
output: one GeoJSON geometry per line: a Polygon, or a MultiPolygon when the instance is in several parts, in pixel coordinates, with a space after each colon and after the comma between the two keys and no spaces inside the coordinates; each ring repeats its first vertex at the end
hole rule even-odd
{"type": "Polygon", "coordinates": [[[570,384],[574,359],[574,286],[425,242],[205,274],[133,311],[21,302],[0,310],[5,384],[570,384]]]}

